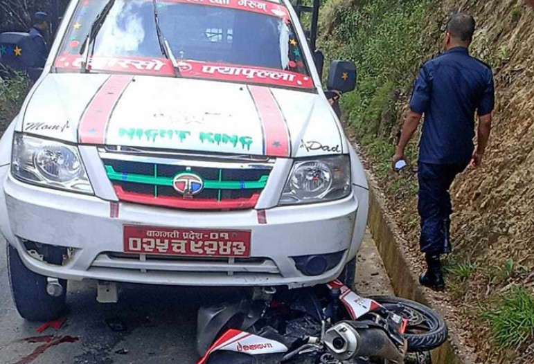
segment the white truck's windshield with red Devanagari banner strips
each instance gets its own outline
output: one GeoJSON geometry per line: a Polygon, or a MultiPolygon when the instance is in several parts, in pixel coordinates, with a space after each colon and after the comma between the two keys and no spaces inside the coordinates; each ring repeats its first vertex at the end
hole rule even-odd
{"type": "MultiPolygon", "coordinates": [[[[80,1],[57,57],[57,69],[80,70],[84,40],[107,3],[80,1]]],[[[283,73],[287,72],[285,78],[294,74],[294,80],[299,81],[295,86],[311,84],[309,77],[303,78],[308,70],[302,48],[281,4],[263,0],[159,0],[155,4],[161,34],[184,77],[195,77],[199,73],[195,66],[200,63],[206,75],[233,73],[253,82],[264,79],[272,83],[273,79],[284,80],[283,73]],[[269,70],[283,73],[272,75],[269,70]]],[[[154,2],[116,0],[96,36],[89,63],[94,72],[121,71],[122,66],[127,71],[174,74],[158,39],[154,2]]]]}

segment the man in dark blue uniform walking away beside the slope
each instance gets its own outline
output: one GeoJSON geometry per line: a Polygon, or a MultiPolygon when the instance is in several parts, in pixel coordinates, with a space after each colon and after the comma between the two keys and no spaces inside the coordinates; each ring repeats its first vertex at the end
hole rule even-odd
{"type": "Polygon", "coordinates": [[[393,165],[404,159],[404,148],[425,114],[419,145],[418,212],[420,249],[427,271],[420,283],[443,290],[440,255],[450,253],[449,189],[456,174],[468,165],[479,167],[488,144],[495,104],[490,67],[471,57],[475,23],[473,17],[455,14],[447,21],[445,52],[422,65],[413,88],[410,111],[393,165]],[[478,143],[474,148],[474,116],[479,116],[478,143]]]}

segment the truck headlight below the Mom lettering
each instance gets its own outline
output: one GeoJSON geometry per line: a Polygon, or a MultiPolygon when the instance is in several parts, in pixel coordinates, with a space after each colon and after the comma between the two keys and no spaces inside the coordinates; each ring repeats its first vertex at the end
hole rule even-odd
{"type": "Polygon", "coordinates": [[[77,147],[15,134],[11,158],[12,175],[21,181],[60,190],[93,193],[77,147]]]}

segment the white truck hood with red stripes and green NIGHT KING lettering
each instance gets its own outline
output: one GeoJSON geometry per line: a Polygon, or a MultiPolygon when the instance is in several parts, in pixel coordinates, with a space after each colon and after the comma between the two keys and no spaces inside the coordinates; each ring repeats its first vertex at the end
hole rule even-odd
{"type": "Polygon", "coordinates": [[[230,82],[51,73],[21,119],[28,134],[89,145],[278,157],[347,151],[322,95],[230,82]]]}

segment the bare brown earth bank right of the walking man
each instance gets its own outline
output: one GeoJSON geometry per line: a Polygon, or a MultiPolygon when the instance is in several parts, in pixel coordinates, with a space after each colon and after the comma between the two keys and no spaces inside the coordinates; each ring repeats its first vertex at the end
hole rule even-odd
{"type": "Polygon", "coordinates": [[[473,2],[468,10],[479,21],[474,53],[488,59],[497,49],[497,107],[484,167],[454,185],[456,244],[475,257],[498,262],[506,255],[532,266],[534,10],[517,8],[516,0],[473,2]]]}

